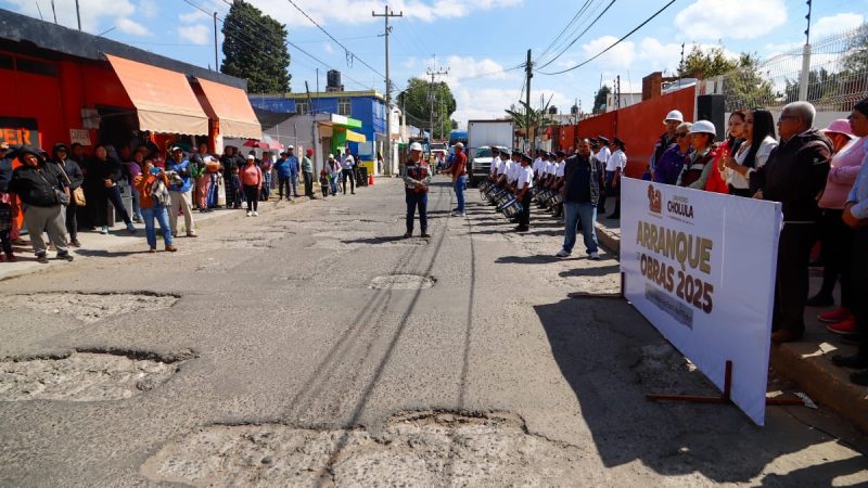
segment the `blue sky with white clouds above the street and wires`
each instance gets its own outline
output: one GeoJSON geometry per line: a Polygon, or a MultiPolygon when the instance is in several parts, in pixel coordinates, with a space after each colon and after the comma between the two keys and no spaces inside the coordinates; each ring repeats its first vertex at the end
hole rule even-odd
{"type": "MultiPolygon", "coordinates": [[[[321,60],[321,64],[290,48],[293,62],[292,89],[304,90],[308,81],[320,87],[330,67],[344,74],[346,89],[384,91],[383,78],[363,61],[384,73],[383,20],[385,3],[368,0],[294,0],[322,27],[352,51],[347,62],[344,49],[305,18],[289,0],[248,0],[267,14],[285,23],[289,39],[321,60]],[[328,66],[327,66],[328,65],[328,66]]],[[[577,26],[584,31],[575,43],[548,70],[580,63],[639,25],[668,1],[618,0],[592,27],[590,17],[611,0],[590,0],[577,26]],[[588,15],[588,13],[592,13],[588,15]]],[[[46,20],[53,20],[51,0],[0,0],[0,7],[35,17],[37,5],[46,20]]],[[[54,0],[58,22],[75,26],[75,0],[54,0]]],[[[201,66],[214,63],[213,21],[194,9],[195,4],[222,17],[227,0],[79,0],[84,29],[91,34],[201,66]]],[[[448,67],[446,80],[458,101],[454,115],[460,123],[472,118],[502,116],[503,108],[519,100],[523,70],[512,68],[524,62],[527,49],[535,60],[544,53],[561,29],[585,2],[572,0],[395,0],[390,8],[403,12],[393,18],[392,79],[403,88],[407,79],[422,76],[426,68],[448,67]]],[[[799,47],[804,42],[804,0],[677,0],[627,41],[586,66],[558,76],[537,74],[532,82],[532,101],[552,97],[552,104],[567,112],[574,100],[590,108],[600,79],[611,85],[621,75],[622,90],[641,91],[641,78],[653,70],[674,70],[680,59],[680,44],[723,44],[732,53],[756,52],[760,57],[799,47]]],[[[864,22],[868,0],[815,0],[812,38],[851,29],[864,22]]],[[[256,27],[250,27],[253,35],[256,27]]],[[[567,30],[572,41],[577,34],[567,30]]],[[[545,64],[560,52],[554,49],[540,61],[545,64]]],[[[547,70],[544,69],[544,70],[547,70]]]]}

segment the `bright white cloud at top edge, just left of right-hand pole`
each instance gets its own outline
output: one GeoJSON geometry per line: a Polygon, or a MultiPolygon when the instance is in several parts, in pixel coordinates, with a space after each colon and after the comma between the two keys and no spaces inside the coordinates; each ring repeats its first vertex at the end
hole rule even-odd
{"type": "Polygon", "coordinates": [[[783,0],[697,0],[675,16],[691,39],[755,39],[787,22],[783,0]]]}

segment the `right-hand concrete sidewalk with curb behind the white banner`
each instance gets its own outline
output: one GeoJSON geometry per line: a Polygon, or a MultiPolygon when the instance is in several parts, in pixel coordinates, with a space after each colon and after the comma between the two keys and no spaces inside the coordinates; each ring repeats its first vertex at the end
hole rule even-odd
{"type": "MultiPolygon", "coordinates": [[[[617,220],[601,217],[597,220],[600,244],[618,255],[621,226],[617,220]]],[[[819,290],[822,269],[810,269],[810,295],[819,290]]],[[[850,383],[852,370],[837,368],[831,362],[835,354],[855,354],[856,346],[846,345],[841,336],[828,332],[817,319],[832,307],[808,307],[805,310],[805,336],[801,342],[771,345],[771,368],[794,382],[815,402],[834,411],[868,433],[868,388],[850,383]]]]}

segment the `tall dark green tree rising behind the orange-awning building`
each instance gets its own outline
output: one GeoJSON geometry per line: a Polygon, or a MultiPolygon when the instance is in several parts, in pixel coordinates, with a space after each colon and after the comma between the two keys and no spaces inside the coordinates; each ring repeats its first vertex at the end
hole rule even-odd
{"type": "Polygon", "coordinates": [[[244,0],[233,0],[222,33],[221,73],[246,78],[250,93],[290,91],[286,26],[244,0]]]}

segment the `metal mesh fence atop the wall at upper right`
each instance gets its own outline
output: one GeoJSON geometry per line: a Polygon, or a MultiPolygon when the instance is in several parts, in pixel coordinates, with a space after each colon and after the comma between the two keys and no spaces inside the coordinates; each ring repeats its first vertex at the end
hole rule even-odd
{"type": "Polygon", "coordinates": [[[739,68],[703,84],[701,92],[725,95],[727,112],[777,111],[797,100],[820,112],[850,112],[868,98],[868,24],[764,61],[742,57],[739,68]]]}

